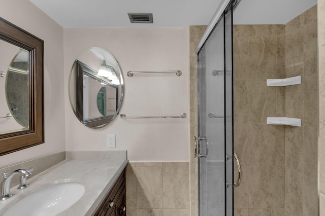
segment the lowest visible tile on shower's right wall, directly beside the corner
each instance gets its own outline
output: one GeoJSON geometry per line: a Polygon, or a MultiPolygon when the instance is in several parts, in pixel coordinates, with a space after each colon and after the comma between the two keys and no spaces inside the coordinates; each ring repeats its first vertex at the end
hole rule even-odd
{"type": "Polygon", "coordinates": [[[303,175],[285,168],[285,211],[286,215],[303,215],[303,175]]]}

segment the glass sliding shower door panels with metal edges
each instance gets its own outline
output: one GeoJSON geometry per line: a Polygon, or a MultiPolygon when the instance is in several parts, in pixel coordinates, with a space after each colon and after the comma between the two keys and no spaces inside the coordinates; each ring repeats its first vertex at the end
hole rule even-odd
{"type": "Polygon", "coordinates": [[[198,52],[200,216],[233,215],[233,187],[240,183],[233,176],[232,17],[237,4],[226,5],[198,52]]]}

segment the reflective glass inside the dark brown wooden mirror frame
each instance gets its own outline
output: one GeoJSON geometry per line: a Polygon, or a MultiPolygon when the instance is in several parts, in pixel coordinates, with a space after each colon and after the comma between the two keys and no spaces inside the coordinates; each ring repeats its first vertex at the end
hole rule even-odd
{"type": "Polygon", "coordinates": [[[11,115],[0,120],[0,134],[29,129],[29,52],[5,41],[0,46],[6,50],[2,55],[0,67],[6,71],[1,78],[0,86],[4,89],[0,93],[1,117],[11,115]]]}

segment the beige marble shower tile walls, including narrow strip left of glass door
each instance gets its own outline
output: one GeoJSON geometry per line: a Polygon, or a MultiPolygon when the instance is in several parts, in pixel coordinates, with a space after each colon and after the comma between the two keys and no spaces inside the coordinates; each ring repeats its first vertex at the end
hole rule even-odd
{"type": "MultiPolygon", "coordinates": [[[[287,25],[234,26],[234,145],[243,170],[235,215],[317,215],[316,10],[287,25]],[[298,75],[302,85],[266,86],[266,79],[298,75]],[[266,125],[268,116],[301,118],[303,127],[266,125]]],[[[190,27],[191,136],[198,130],[194,49],[204,29],[190,27]]],[[[190,146],[192,156],[192,140],[190,146]]],[[[197,178],[191,158],[191,215],[197,215],[197,178]]]]}

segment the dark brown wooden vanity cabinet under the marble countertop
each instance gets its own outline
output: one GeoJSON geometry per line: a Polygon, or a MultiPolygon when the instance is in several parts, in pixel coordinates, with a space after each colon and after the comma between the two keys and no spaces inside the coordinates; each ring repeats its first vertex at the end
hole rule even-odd
{"type": "Polygon", "coordinates": [[[108,193],[100,207],[94,214],[95,216],[125,216],[126,215],[125,197],[125,169],[118,177],[111,191],[108,193]]]}

